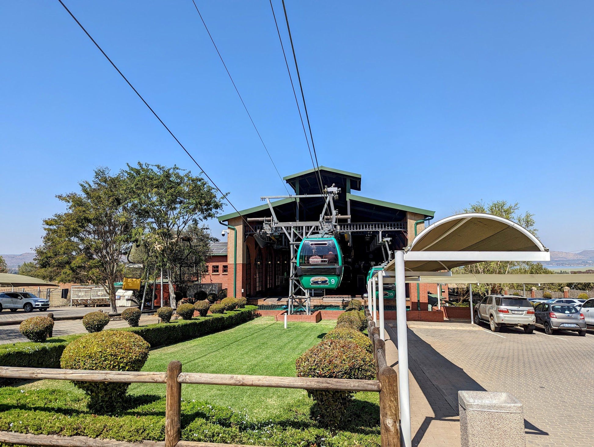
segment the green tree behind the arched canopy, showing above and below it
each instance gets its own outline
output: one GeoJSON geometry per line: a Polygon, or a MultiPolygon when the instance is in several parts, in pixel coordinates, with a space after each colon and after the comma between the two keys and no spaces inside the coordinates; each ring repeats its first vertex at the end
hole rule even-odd
{"type": "MultiPolygon", "coordinates": [[[[520,213],[520,205],[518,202],[513,204],[505,201],[498,200],[485,204],[484,201],[478,201],[474,204],[470,204],[468,208],[464,208],[462,213],[486,213],[497,215],[499,217],[506,218],[514,221],[517,224],[523,226],[526,230],[536,236],[538,230],[536,230],[536,222],[534,215],[525,211],[520,213]]],[[[487,261],[479,262],[478,264],[465,265],[463,267],[457,267],[453,270],[454,274],[472,273],[472,274],[508,274],[508,273],[551,273],[542,266],[542,264],[535,264],[533,262],[517,262],[517,261],[487,261]]],[[[477,291],[480,294],[486,293],[501,293],[504,284],[479,284],[473,287],[473,291],[477,291]]]]}

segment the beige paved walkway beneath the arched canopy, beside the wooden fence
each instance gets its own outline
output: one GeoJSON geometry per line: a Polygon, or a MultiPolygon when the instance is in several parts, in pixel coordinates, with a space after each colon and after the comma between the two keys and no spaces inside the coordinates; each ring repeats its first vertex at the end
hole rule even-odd
{"type": "MultiPolygon", "coordinates": [[[[396,338],[396,322],[394,322],[394,328],[387,324],[386,360],[390,366],[398,370],[396,338]]],[[[413,447],[460,447],[460,418],[457,402],[454,405],[445,397],[415,361],[415,354],[410,349],[409,387],[413,447]]]]}

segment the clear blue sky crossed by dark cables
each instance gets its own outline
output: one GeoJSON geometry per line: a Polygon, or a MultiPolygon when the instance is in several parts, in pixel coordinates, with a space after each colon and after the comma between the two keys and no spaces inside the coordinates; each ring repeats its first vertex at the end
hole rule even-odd
{"type": "MultiPolygon", "coordinates": [[[[284,194],[191,0],[65,3],[236,207],[284,194]]],[[[592,2],[286,3],[320,164],[436,218],[518,201],[549,248],[594,247],[592,2]]],[[[310,168],[268,2],[197,4],[281,175],[310,168]]],[[[196,171],[57,1],[1,2],[0,42],[0,253],[97,166],[196,171]]]]}

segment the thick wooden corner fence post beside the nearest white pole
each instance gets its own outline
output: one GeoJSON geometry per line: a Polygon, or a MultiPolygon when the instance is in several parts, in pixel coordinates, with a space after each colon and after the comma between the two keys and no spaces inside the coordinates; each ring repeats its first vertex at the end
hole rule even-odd
{"type": "Polygon", "coordinates": [[[400,414],[398,408],[398,379],[390,366],[380,369],[380,428],[381,447],[400,447],[400,414]]]}

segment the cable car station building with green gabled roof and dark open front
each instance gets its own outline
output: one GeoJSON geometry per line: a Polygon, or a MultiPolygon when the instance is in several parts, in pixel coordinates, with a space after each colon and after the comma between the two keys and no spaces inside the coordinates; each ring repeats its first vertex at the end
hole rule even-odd
{"type": "MultiPolygon", "coordinates": [[[[421,232],[434,211],[410,207],[353,194],[361,191],[361,175],[320,166],[323,189],[337,188],[333,207],[337,215],[334,236],[343,253],[343,274],[336,290],[311,291],[315,297],[352,297],[366,291],[366,276],[374,265],[389,261],[388,253],[402,250],[421,232]]],[[[326,199],[320,196],[319,177],[313,169],[284,177],[299,198],[263,198],[257,207],[218,217],[220,223],[235,227],[227,246],[228,293],[233,293],[233,253],[236,249],[236,293],[245,297],[287,297],[290,283],[291,241],[287,233],[260,237],[263,224],[273,217],[291,229],[301,223],[320,221],[326,199]],[[304,195],[317,195],[308,197],[304,195]],[[274,214],[274,215],[273,215],[274,214]],[[235,234],[237,245],[235,248],[235,234]],[[263,240],[264,239],[264,240],[263,240]]],[[[328,207],[326,207],[328,208],[328,207]]],[[[329,220],[329,217],[324,217],[329,220]]],[[[233,230],[231,228],[231,230],[233,230]]],[[[306,231],[306,230],[304,230],[306,231]]],[[[294,252],[293,252],[294,253],[294,252]]],[[[295,256],[293,255],[293,261],[295,256]]],[[[437,286],[432,285],[437,290],[437,286]]],[[[431,286],[429,286],[431,287],[431,286]]],[[[416,300],[416,290],[412,290],[416,300]]],[[[426,293],[432,290],[424,290],[426,293]]],[[[433,291],[435,293],[435,291],[433,291]]],[[[407,293],[410,296],[410,293],[407,293]]],[[[426,307],[425,307],[426,309],[426,307]]]]}

